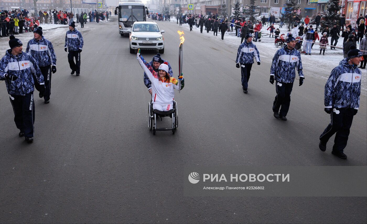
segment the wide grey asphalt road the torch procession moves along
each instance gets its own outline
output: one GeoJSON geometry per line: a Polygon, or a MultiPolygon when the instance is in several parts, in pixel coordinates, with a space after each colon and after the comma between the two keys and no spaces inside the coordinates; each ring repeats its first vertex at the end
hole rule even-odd
{"type": "MultiPolygon", "coordinates": [[[[177,76],[180,27],[158,24],[177,76]]],[[[178,130],[152,135],[150,95],[128,38],[116,21],[83,37],[80,76],[70,75],[64,37],[51,40],[58,70],[50,104],[36,96],[32,144],[18,137],[0,83],[0,223],[366,223],[365,197],[185,197],[181,187],[191,165],[366,166],[366,96],[341,160],[332,139],[326,152],[318,148],[329,123],[323,80],[305,71],[283,122],[272,115],[270,61],[254,64],[244,94],[238,46],[187,31],[178,130]]]]}

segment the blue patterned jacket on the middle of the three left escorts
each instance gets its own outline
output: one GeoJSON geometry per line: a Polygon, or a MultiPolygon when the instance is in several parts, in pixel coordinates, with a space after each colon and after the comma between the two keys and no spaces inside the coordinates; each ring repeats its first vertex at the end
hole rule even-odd
{"type": "Polygon", "coordinates": [[[37,61],[38,66],[46,67],[50,65],[56,66],[56,55],[54,47],[51,42],[45,39],[43,36],[41,40],[32,39],[28,41],[27,49],[25,51],[29,53],[34,60],[37,61]]]}

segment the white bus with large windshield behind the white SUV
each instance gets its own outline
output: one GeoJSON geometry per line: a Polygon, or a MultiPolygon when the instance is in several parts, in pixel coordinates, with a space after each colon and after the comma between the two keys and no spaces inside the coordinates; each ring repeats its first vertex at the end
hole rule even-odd
{"type": "Polygon", "coordinates": [[[149,13],[141,0],[122,0],[116,7],[119,15],[119,33],[121,36],[128,35],[128,29],[131,29],[135,21],[146,21],[146,15],[149,13]]]}

